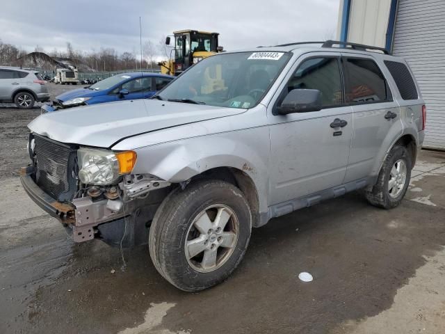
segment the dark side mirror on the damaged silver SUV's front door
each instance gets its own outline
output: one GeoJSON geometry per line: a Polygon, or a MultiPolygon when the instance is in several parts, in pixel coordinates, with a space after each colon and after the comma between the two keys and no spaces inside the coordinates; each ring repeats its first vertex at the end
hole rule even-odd
{"type": "Polygon", "coordinates": [[[280,115],[319,110],[321,110],[321,91],[318,89],[293,89],[277,107],[280,115]]]}

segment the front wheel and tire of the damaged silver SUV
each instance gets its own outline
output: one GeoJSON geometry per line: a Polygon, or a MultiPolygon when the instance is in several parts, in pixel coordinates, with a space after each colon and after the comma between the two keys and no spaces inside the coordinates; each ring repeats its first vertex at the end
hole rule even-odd
{"type": "Polygon", "coordinates": [[[251,230],[250,207],[236,186],[200,180],[173,190],[163,200],[149,230],[150,256],[172,285],[186,292],[200,291],[223,282],[236,269],[251,230]],[[227,223],[218,230],[218,221],[227,215],[227,223]]]}

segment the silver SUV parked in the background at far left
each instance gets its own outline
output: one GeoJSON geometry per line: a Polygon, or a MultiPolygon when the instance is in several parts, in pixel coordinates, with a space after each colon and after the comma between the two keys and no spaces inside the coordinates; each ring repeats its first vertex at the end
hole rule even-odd
{"type": "Polygon", "coordinates": [[[20,109],[31,109],[36,101],[49,101],[45,84],[39,72],[0,66],[0,102],[13,102],[20,109]]]}

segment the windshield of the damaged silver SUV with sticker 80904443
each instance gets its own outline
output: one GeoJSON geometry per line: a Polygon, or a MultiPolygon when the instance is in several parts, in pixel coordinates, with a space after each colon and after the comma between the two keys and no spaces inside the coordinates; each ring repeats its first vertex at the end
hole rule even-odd
{"type": "Polygon", "coordinates": [[[291,54],[238,52],[200,61],[159,93],[162,100],[248,109],[277,79],[291,54]]]}

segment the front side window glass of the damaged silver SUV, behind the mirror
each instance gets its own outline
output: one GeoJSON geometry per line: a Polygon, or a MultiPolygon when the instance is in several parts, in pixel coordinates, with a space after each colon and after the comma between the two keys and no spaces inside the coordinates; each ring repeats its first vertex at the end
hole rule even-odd
{"type": "Polygon", "coordinates": [[[343,89],[338,58],[303,61],[287,84],[288,93],[293,89],[317,89],[323,107],[341,105],[343,89]]]}

